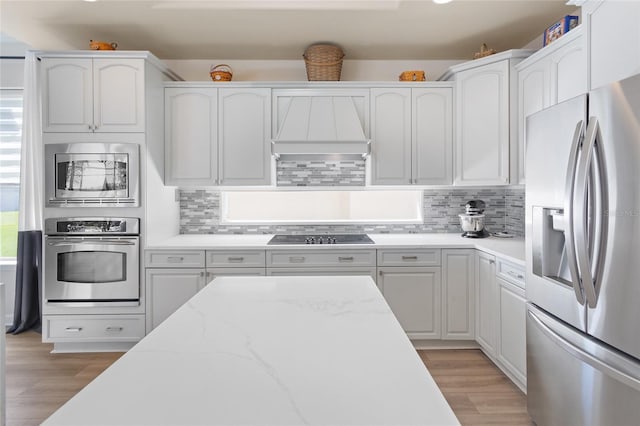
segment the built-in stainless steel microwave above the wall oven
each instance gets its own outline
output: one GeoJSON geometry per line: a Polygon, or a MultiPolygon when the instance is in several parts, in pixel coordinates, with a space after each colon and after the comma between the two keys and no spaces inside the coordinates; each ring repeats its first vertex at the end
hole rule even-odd
{"type": "Polygon", "coordinates": [[[45,145],[49,207],[139,205],[139,147],[131,143],[45,145]]]}

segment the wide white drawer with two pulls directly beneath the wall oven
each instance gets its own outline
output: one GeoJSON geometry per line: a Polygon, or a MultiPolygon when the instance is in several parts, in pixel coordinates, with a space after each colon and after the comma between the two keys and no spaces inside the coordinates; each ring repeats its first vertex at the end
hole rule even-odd
{"type": "Polygon", "coordinates": [[[44,317],[44,342],[137,342],[144,315],[60,315],[44,317]]]}

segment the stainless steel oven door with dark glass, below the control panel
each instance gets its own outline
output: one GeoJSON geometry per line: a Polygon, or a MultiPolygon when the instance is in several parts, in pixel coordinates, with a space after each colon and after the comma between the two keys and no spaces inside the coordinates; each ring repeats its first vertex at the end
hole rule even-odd
{"type": "Polygon", "coordinates": [[[46,237],[47,303],[138,305],[139,237],[46,237]]]}

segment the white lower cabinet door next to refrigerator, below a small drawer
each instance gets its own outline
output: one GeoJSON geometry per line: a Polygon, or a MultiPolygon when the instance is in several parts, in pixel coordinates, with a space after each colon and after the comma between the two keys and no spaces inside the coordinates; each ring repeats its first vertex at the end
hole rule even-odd
{"type": "Polygon", "coordinates": [[[524,387],[527,382],[525,291],[502,278],[497,281],[500,298],[497,357],[524,387]]]}

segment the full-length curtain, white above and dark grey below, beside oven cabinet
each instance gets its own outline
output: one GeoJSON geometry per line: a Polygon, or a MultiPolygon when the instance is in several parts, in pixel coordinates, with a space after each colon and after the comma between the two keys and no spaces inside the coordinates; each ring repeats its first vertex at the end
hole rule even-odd
{"type": "Polygon", "coordinates": [[[42,326],[43,151],[38,59],[36,52],[28,51],[24,61],[16,302],[9,330],[14,334],[40,331],[42,326]]]}

